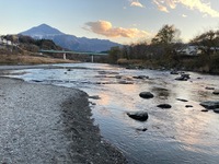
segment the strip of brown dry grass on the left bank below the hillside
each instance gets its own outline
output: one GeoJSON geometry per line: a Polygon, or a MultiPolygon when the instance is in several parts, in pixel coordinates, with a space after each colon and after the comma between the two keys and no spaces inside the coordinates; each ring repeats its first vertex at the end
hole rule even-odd
{"type": "Polygon", "coordinates": [[[73,60],[64,60],[47,57],[34,57],[24,55],[0,55],[0,65],[42,65],[42,63],[69,63],[73,60]]]}

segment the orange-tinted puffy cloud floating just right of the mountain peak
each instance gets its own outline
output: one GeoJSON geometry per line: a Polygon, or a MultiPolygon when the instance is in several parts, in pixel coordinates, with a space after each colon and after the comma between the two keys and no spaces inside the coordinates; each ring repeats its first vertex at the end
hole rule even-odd
{"type": "Polygon", "coordinates": [[[87,31],[100,34],[106,37],[146,37],[149,33],[145,31],[139,31],[137,28],[123,28],[123,27],[113,27],[111,22],[107,21],[96,21],[88,22],[83,27],[87,31]]]}

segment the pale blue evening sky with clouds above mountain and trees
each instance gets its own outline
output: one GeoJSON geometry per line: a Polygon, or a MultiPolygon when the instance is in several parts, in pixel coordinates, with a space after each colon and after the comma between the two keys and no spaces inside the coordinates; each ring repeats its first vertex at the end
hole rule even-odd
{"type": "Polygon", "coordinates": [[[78,37],[148,42],[163,25],[183,42],[219,30],[219,0],[0,0],[0,35],[43,23],[78,37]]]}

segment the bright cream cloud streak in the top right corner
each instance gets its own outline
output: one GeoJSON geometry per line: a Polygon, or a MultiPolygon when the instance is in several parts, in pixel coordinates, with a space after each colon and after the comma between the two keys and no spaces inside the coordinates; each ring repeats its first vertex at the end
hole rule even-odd
{"type": "Polygon", "coordinates": [[[219,11],[214,10],[209,2],[201,2],[201,0],[153,0],[153,2],[158,5],[158,9],[163,12],[168,12],[168,8],[175,9],[177,4],[183,4],[191,10],[198,10],[212,17],[219,17],[219,11]]]}

